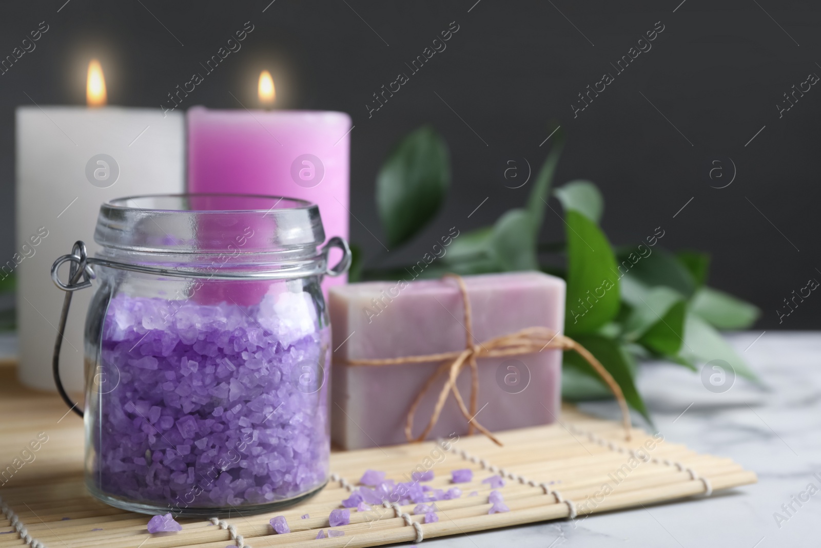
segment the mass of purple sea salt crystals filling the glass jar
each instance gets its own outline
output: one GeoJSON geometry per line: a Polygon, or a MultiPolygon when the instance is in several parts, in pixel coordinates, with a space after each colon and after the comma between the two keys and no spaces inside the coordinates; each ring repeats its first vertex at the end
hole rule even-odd
{"type": "Polygon", "coordinates": [[[328,329],[306,292],[258,305],[117,294],[92,436],[99,490],[175,509],[303,495],[328,475],[328,329]]]}

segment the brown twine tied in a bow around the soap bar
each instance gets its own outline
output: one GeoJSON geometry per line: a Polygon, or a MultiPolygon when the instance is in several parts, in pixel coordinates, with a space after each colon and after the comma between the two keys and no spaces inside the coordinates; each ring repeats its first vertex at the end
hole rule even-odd
{"type": "Polygon", "coordinates": [[[480,357],[521,356],[522,354],[541,352],[545,348],[573,350],[578,352],[581,357],[585,358],[585,361],[593,367],[594,371],[599,374],[602,380],[604,380],[604,382],[608,385],[608,388],[612,391],[613,395],[616,397],[619,407],[621,408],[621,421],[625,429],[626,439],[630,440],[630,412],[627,409],[627,402],[624,398],[624,394],[621,392],[621,387],[617,384],[616,380],[612,378],[612,375],[610,375],[608,370],[604,368],[601,362],[597,360],[596,357],[594,357],[594,355],[587,350],[587,348],[581,346],[579,343],[576,343],[576,341],[572,338],[555,333],[552,329],[548,329],[546,327],[529,327],[516,331],[516,333],[491,338],[482,343],[475,343],[472,335],[473,325],[470,318],[470,299],[467,295],[465,281],[461,279],[461,276],[458,274],[445,274],[444,277],[456,280],[456,283],[459,286],[459,291],[461,292],[462,302],[464,302],[465,305],[466,341],[464,350],[456,352],[439,352],[437,354],[424,354],[421,356],[346,361],[346,364],[350,366],[393,366],[406,363],[427,363],[429,361],[443,362],[442,365],[440,365],[433,373],[433,375],[430,375],[428,380],[425,381],[422,389],[418,394],[416,394],[413,403],[410,404],[405,423],[405,437],[409,442],[422,441],[427,437],[430,431],[433,430],[433,426],[436,426],[436,423],[439,420],[439,415],[441,414],[445,402],[447,401],[447,394],[452,392],[453,397],[456,398],[456,403],[458,403],[462,415],[464,415],[468,421],[468,434],[472,434],[473,429],[476,428],[484,435],[488,436],[490,440],[493,440],[494,443],[502,445],[502,443],[490,431],[488,431],[487,428],[482,426],[479,421],[476,420],[476,403],[479,397],[479,366],[477,365],[476,360],[480,357]],[[465,400],[462,398],[459,389],[456,387],[456,378],[459,376],[459,373],[465,364],[470,366],[470,410],[466,407],[465,400]],[[419,407],[424,394],[427,394],[433,383],[436,382],[440,375],[445,373],[447,373],[447,380],[445,381],[442,389],[439,391],[439,397],[433,408],[433,414],[428,421],[428,426],[425,426],[424,431],[414,438],[412,431],[416,408],[419,407]]]}

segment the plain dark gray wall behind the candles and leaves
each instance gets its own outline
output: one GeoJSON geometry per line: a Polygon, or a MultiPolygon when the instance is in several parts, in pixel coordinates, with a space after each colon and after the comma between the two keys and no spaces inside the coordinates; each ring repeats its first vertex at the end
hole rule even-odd
{"type": "MultiPolygon", "coordinates": [[[[110,104],[159,108],[251,21],[255,30],[241,51],[182,106],[237,108],[229,92],[256,105],[256,78],[268,68],[279,108],[351,113],[358,219],[351,219],[351,239],[366,256],[382,249],[374,176],[400,136],[432,122],[452,154],[452,191],[426,242],[454,225],[492,223],[524,203],[530,186],[506,188],[507,161],[538,168],[550,141],[539,144],[558,123],[567,144],[556,182],[599,185],[603,228],[614,244],[637,245],[661,226],[667,248],[712,253],[709,282],[760,306],[762,329],[819,327],[821,297],[810,296],[780,326],[775,311],[807,279],[821,279],[821,89],[814,86],[782,118],[776,107],[810,72],[821,75],[818,2],[64,2],[0,7],[0,57],[40,21],[50,26],[34,52],[0,76],[0,230],[9,235],[0,240],[2,257],[14,252],[14,109],[30,104],[24,91],[39,104],[84,104],[85,67],[97,56],[107,67],[110,104]],[[451,21],[460,30],[447,49],[369,118],[371,95],[451,21]],[[665,29],[653,48],[574,118],[577,94],[603,72],[615,75],[610,62],[656,21],[665,29]],[[735,181],[712,188],[729,181],[730,159],[735,181]],[[724,178],[709,178],[713,160],[722,162],[724,178]]],[[[543,239],[563,231],[548,210],[543,239]]],[[[416,260],[427,247],[418,242],[378,260],[416,260]]]]}

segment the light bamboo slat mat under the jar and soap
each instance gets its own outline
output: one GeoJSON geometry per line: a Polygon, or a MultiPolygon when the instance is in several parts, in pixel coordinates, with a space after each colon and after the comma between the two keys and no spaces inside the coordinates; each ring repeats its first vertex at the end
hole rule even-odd
{"type": "Polygon", "coordinates": [[[503,447],[484,436],[462,436],[448,452],[436,442],[334,452],[333,481],[318,495],[290,509],[273,513],[222,516],[222,519],[181,519],[182,531],[149,535],[148,516],[114,509],[93,499],[82,479],[83,429],[56,395],[22,388],[12,367],[0,367],[0,470],[39,432],[48,441],[6,483],[0,480],[2,512],[0,548],[225,548],[226,546],[325,546],[356,548],[541,522],[587,513],[629,508],[709,495],[715,490],[754,483],[729,458],[696,454],[681,444],[657,442],[634,429],[632,440],[616,422],[586,416],[574,408],[562,411],[561,424],[498,433],[503,447]],[[652,449],[650,449],[652,446],[652,449]],[[644,447],[644,449],[641,449],[644,447]],[[635,452],[635,453],[634,453],[635,452]],[[426,460],[429,459],[429,460],[426,460]],[[331,527],[344,536],[314,540],[328,531],[328,514],[356,489],[367,468],[387,472],[389,479],[409,481],[417,465],[431,468],[436,489],[452,486],[450,472],[474,471],[474,480],[460,483],[463,494],[436,502],[438,523],[422,523],[409,506],[379,507],[370,512],[351,509],[351,524],[331,527]],[[482,480],[494,474],[507,479],[499,489],[510,512],[488,515],[490,487],[482,480]],[[471,491],[478,495],[469,496],[471,491]],[[309,518],[300,518],[309,514],[309,518]],[[291,533],[277,535],[268,520],[287,518],[291,533]],[[19,523],[14,527],[12,520],[19,523]],[[30,535],[21,538],[18,530],[30,535]],[[41,544],[38,544],[41,543],[41,544]]]}

